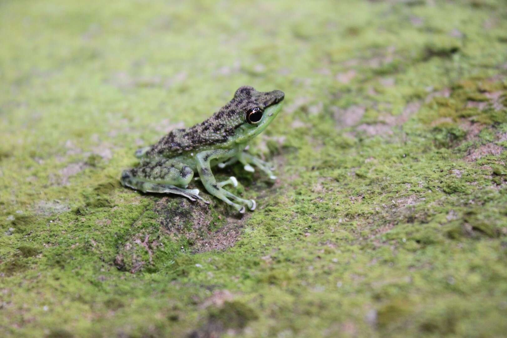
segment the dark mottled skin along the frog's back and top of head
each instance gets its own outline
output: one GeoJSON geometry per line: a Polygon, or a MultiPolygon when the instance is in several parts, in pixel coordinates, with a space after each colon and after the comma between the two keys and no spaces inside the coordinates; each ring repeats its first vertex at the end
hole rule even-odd
{"type": "MultiPolygon", "coordinates": [[[[236,136],[238,128],[245,123],[245,111],[253,107],[266,109],[283,100],[279,90],[258,92],[252,87],[240,87],[234,98],[215,112],[209,119],[187,129],[174,129],[152,145],[146,156],[174,157],[209,145],[225,143],[236,136]]],[[[248,135],[242,135],[246,138],[248,135]]],[[[236,139],[236,141],[241,138],[236,139]]]]}

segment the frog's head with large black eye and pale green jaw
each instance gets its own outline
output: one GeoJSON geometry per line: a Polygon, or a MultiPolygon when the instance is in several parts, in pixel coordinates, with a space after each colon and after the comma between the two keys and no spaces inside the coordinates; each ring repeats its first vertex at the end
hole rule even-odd
{"type": "Polygon", "coordinates": [[[241,122],[236,127],[237,139],[247,141],[266,129],[280,111],[284,96],[281,90],[258,92],[250,86],[239,87],[229,102],[241,122]]]}

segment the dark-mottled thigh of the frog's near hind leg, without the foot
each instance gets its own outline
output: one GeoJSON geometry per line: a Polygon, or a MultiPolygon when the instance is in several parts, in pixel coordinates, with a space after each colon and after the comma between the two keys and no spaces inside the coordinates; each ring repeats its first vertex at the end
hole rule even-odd
{"type": "Polygon", "coordinates": [[[192,177],[194,177],[194,171],[189,166],[181,162],[162,159],[124,170],[121,180],[123,185],[144,191],[144,182],[187,187],[192,177]]]}

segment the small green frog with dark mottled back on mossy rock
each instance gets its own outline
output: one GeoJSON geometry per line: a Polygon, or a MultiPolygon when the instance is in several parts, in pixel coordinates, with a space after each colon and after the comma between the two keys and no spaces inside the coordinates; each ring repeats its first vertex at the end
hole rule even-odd
{"type": "Polygon", "coordinates": [[[139,165],[123,170],[121,183],[143,193],[176,194],[209,204],[199,196],[199,189],[188,189],[194,178],[210,195],[239,213],[245,212],[245,206],[255,210],[255,200],[224,189],[228,184],[238,185],[234,176],[217,182],[212,169],[239,162],[246,171],[254,172],[255,166],[276,180],[274,167],[252,156],[248,146],[276,118],[284,97],[281,90],[260,92],[251,86],[239,87],[233,98],[207,120],[190,128],[173,129],[157,143],[137,149],[134,155],[139,165]]]}

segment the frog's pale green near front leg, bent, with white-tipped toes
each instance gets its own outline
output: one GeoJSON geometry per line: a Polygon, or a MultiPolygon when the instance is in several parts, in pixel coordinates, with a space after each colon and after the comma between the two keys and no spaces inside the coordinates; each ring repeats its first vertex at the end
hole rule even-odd
{"type": "MultiPolygon", "coordinates": [[[[209,150],[204,151],[199,154],[197,154],[197,170],[199,172],[199,176],[201,177],[202,184],[206,188],[206,190],[213,196],[221,199],[225,203],[233,206],[236,208],[240,213],[245,212],[245,207],[239,204],[236,204],[229,200],[229,198],[240,202],[242,204],[245,204],[248,206],[250,210],[255,210],[256,203],[254,200],[244,200],[242,198],[237,197],[236,195],[228,192],[227,190],[223,189],[221,184],[217,183],[215,180],[215,177],[213,176],[213,173],[211,172],[211,167],[209,162],[215,158],[220,157],[228,157],[228,154],[233,153],[234,151],[227,151],[225,149],[216,149],[216,150],[209,150]]],[[[232,154],[231,154],[232,155],[232,154]]]]}

